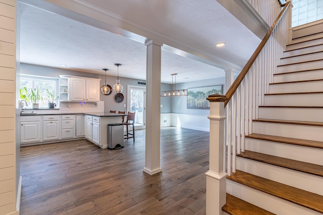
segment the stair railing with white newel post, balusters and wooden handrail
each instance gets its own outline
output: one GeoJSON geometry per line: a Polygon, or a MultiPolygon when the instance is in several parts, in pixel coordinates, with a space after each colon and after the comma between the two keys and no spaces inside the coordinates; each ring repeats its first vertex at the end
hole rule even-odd
{"type": "Polygon", "coordinates": [[[287,2],[226,95],[209,95],[209,170],[206,174],[206,214],[221,214],[226,203],[226,176],[236,171],[236,154],[244,151],[258,106],[276,73],[288,43],[291,3],[287,2]]]}

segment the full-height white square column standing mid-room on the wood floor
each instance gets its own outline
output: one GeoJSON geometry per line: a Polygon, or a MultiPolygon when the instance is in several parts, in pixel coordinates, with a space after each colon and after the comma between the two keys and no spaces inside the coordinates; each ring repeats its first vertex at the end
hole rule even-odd
{"type": "Polygon", "coordinates": [[[146,68],[146,159],[143,171],[149,175],[160,168],[160,74],[161,45],[148,40],[146,68]]]}

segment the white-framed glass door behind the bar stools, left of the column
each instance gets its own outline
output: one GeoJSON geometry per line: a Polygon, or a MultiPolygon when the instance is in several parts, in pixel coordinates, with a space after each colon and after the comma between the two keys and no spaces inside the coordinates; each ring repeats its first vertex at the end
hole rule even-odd
{"type": "Polygon", "coordinates": [[[127,110],[135,112],[135,129],[145,129],[146,87],[127,86],[127,110]]]}

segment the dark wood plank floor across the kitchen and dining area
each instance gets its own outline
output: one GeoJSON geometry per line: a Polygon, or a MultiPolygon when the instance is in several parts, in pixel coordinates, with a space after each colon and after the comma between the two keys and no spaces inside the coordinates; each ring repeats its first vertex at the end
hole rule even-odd
{"type": "Polygon", "coordinates": [[[205,214],[209,133],[162,128],[163,172],[150,176],[144,132],[119,150],[87,140],[21,148],[20,214],[205,214]]]}

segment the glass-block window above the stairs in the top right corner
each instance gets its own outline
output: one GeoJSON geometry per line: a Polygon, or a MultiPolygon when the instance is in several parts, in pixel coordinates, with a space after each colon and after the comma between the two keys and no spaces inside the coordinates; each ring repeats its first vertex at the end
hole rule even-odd
{"type": "Polygon", "coordinates": [[[293,0],[292,27],[323,19],[323,0],[293,0]]]}

